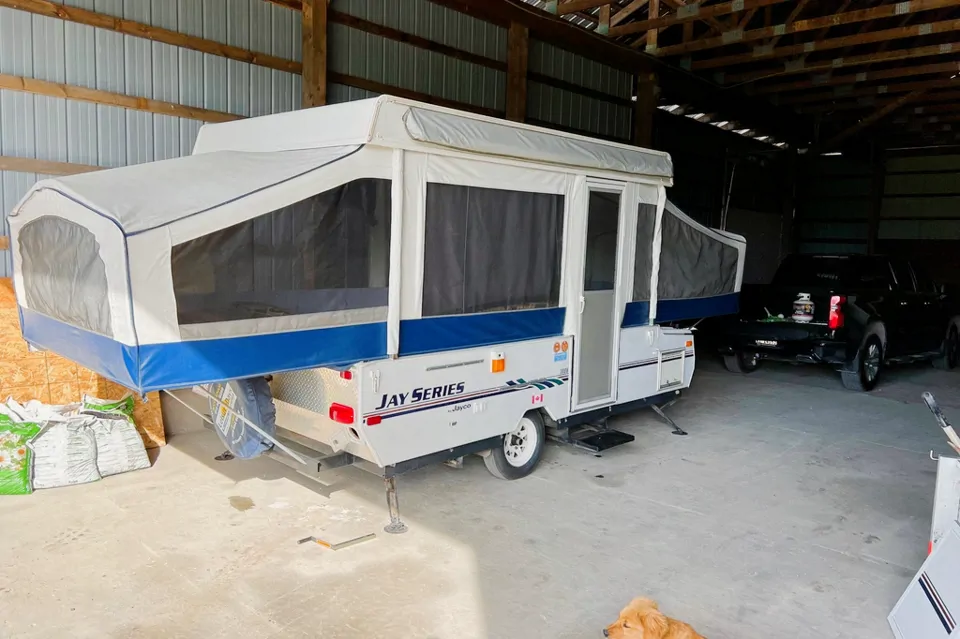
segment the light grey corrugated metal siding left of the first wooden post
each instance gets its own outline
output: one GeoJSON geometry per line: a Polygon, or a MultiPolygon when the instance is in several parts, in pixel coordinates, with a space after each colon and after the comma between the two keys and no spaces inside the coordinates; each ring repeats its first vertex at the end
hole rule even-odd
{"type": "MultiPolygon", "coordinates": [[[[300,15],[264,0],[67,0],[66,4],[287,59],[300,15]]],[[[239,115],[300,105],[300,78],[112,31],[0,8],[0,73],[65,82],[239,115]]],[[[0,153],[107,167],[191,152],[201,122],[0,90],[0,153]]],[[[0,174],[6,213],[37,180],[0,174]]],[[[0,252],[0,277],[10,274],[0,252]]]]}

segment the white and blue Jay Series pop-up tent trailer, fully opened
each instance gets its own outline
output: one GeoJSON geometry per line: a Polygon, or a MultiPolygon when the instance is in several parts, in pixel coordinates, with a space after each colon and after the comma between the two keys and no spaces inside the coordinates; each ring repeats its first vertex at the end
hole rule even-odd
{"type": "Polygon", "coordinates": [[[665,153],[386,96],[206,125],[27,194],[23,334],[138,392],[272,375],[281,426],[386,467],[686,387],[661,325],[735,312],[745,243],[671,183],[665,153]]]}

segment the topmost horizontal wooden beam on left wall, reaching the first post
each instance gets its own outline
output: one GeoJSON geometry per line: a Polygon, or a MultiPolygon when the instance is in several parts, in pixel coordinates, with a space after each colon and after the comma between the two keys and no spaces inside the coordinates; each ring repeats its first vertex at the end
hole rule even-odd
{"type": "Polygon", "coordinates": [[[83,24],[90,27],[97,27],[98,29],[145,38],[154,42],[162,42],[193,51],[209,53],[230,60],[248,62],[269,69],[277,69],[278,71],[287,71],[289,73],[300,72],[300,63],[294,60],[285,60],[266,53],[249,51],[240,47],[177,33],[170,29],[153,27],[134,20],[115,18],[86,9],[48,2],[47,0],[0,0],[0,7],[27,11],[34,15],[46,16],[48,18],[59,18],[66,22],[83,24]]]}

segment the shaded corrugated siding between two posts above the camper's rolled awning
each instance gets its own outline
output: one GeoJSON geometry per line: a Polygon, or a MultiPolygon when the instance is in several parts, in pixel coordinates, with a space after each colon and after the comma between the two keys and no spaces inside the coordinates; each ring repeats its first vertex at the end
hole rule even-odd
{"type": "MultiPolygon", "coordinates": [[[[629,100],[633,95],[633,78],[629,73],[536,39],[530,40],[529,69],[533,73],[622,99],[629,100]]],[[[629,140],[633,113],[628,106],[529,82],[527,117],[559,127],[629,140]]]]}

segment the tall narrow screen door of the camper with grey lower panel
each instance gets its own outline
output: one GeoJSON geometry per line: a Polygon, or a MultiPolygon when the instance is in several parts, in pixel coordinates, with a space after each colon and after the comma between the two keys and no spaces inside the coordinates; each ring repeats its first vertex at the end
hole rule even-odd
{"type": "Polygon", "coordinates": [[[588,187],[580,330],[577,335],[574,409],[614,399],[619,331],[617,261],[623,189],[588,187]]]}

